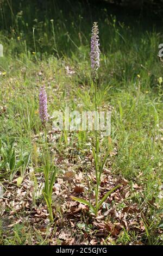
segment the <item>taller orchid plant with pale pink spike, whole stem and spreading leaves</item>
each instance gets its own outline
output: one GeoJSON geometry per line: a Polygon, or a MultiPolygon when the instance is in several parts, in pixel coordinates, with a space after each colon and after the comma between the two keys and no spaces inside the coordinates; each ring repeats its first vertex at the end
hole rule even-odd
{"type": "Polygon", "coordinates": [[[105,200],[108,198],[108,196],[116,190],[117,187],[120,185],[112,188],[112,190],[108,191],[108,193],[105,194],[105,196],[99,200],[99,186],[101,184],[101,175],[103,168],[105,166],[106,160],[108,159],[109,152],[106,153],[104,156],[103,161],[99,159],[99,139],[98,139],[98,134],[97,134],[97,124],[98,124],[98,113],[97,113],[97,79],[98,79],[98,69],[100,66],[100,50],[99,50],[99,36],[98,36],[98,25],[97,22],[93,23],[92,27],[92,35],[91,35],[91,52],[90,52],[90,59],[91,59],[91,73],[92,73],[92,82],[95,88],[95,111],[96,111],[96,116],[95,116],[95,138],[96,138],[96,147],[92,148],[93,151],[93,157],[95,160],[95,171],[96,171],[96,186],[93,186],[93,189],[95,191],[95,206],[87,200],[77,198],[77,197],[72,197],[74,200],[83,203],[85,205],[88,205],[90,210],[97,216],[98,215],[98,210],[100,209],[101,205],[105,200]]]}

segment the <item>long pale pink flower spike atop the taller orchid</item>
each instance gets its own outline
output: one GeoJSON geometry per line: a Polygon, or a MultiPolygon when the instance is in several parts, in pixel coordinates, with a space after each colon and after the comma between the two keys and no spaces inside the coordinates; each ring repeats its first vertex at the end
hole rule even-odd
{"type": "Polygon", "coordinates": [[[91,36],[91,68],[93,78],[97,77],[97,70],[99,69],[99,36],[98,36],[98,25],[97,22],[93,22],[92,36],[91,36]]]}

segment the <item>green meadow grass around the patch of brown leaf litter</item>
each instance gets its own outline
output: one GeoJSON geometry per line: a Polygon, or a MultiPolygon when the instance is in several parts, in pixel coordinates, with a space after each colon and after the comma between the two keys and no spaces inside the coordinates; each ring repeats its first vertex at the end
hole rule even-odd
{"type": "MultiPolygon", "coordinates": [[[[46,84],[50,116],[54,110],[66,106],[79,111],[93,109],[89,52],[92,21],[98,21],[102,53],[97,102],[98,107],[112,107],[111,136],[101,139],[100,151],[104,155],[111,148],[116,153],[110,153],[106,165],[112,175],[121,175],[129,181],[133,190],[130,199],[139,205],[142,213],[146,211],[143,218],[146,229],[141,235],[124,229],[117,239],[106,239],[104,244],[126,245],[137,241],[162,244],[161,233],[157,233],[162,218],[162,199],[158,194],[163,178],[163,91],[162,83],[159,86],[158,82],[162,63],[157,56],[158,45],[163,40],[161,28],[146,28],[140,20],[138,29],[134,21],[123,22],[120,17],[119,22],[118,17],[104,9],[95,15],[95,7],[90,7],[88,18],[87,10],[77,4],[67,16],[65,9],[60,11],[59,4],[53,7],[54,15],[48,15],[46,10],[41,16],[29,5],[21,8],[13,7],[12,21],[6,21],[12,23],[14,30],[6,30],[3,17],[0,32],[4,46],[4,57],[0,58],[1,138],[15,137],[17,154],[32,150],[29,167],[35,174],[42,172],[45,138],[40,135],[38,114],[40,85],[46,84]],[[16,16],[21,8],[23,13],[16,16]],[[51,19],[54,19],[54,31],[51,19]],[[72,75],[67,74],[66,66],[74,71],[72,75]],[[142,191],[137,193],[133,184],[142,191]]],[[[52,120],[48,131],[52,131],[52,120]]],[[[69,148],[88,154],[89,142],[95,143],[91,132],[61,132],[58,139],[49,142],[51,159],[54,162],[57,157],[66,159],[65,151],[69,148]]],[[[10,236],[8,229],[1,226],[1,244],[49,243],[48,235],[43,238],[33,226],[26,231],[23,222],[9,228],[10,236]]]]}

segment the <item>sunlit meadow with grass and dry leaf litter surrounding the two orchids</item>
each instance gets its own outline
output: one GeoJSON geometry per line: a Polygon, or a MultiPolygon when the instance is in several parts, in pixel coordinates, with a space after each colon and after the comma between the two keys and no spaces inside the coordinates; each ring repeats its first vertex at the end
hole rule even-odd
{"type": "Polygon", "coordinates": [[[0,1],[1,245],[162,245],[160,8],[134,9],[105,1],[0,1]],[[96,182],[95,136],[56,132],[52,127],[55,110],[94,109],[94,21],[101,49],[97,104],[99,109],[111,109],[111,135],[99,143],[101,159],[109,150],[101,196],[122,184],[106,199],[97,218],[71,199],[87,198],[87,173],[96,182]],[[48,157],[58,168],[53,224],[42,196],[43,84],[48,97],[48,157]]]}

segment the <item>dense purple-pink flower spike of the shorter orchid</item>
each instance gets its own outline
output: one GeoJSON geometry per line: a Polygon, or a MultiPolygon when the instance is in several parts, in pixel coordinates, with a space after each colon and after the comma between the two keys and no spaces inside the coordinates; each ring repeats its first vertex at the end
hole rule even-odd
{"type": "Polygon", "coordinates": [[[45,90],[45,86],[41,86],[40,94],[39,94],[39,114],[42,124],[45,125],[46,121],[48,120],[48,113],[47,113],[47,94],[45,90]]]}

